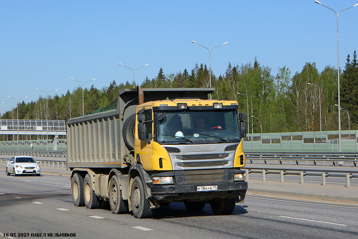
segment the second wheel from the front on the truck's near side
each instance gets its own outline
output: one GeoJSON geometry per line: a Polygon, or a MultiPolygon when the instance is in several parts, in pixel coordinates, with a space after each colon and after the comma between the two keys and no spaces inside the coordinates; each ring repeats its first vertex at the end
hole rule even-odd
{"type": "Polygon", "coordinates": [[[117,176],[113,176],[109,185],[109,197],[112,213],[125,214],[128,213],[128,204],[122,198],[122,192],[119,187],[117,176]]]}

